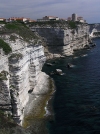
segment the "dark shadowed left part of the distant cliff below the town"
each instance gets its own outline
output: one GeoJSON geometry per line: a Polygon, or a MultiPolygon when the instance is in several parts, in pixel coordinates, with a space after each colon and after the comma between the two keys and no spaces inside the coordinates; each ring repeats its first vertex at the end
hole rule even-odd
{"type": "Polygon", "coordinates": [[[46,47],[52,54],[63,53],[63,39],[64,33],[61,29],[55,28],[39,28],[36,29],[37,33],[42,37],[46,43],[46,47]]]}

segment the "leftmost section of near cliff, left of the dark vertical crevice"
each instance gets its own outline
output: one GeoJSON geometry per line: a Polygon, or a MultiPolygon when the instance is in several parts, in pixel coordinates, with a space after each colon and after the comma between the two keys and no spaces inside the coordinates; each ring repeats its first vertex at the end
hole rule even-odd
{"type": "Polygon", "coordinates": [[[0,55],[0,109],[11,112],[8,57],[0,55]]]}

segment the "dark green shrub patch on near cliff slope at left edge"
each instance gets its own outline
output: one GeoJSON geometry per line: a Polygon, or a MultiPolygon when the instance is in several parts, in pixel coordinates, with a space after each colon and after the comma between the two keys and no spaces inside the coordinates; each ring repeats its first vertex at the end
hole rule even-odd
{"type": "Polygon", "coordinates": [[[3,49],[5,54],[9,54],[12,51],[11,47],[6,42],[4,42],[2,39],[0,39],[0,48],[3,49]]]}

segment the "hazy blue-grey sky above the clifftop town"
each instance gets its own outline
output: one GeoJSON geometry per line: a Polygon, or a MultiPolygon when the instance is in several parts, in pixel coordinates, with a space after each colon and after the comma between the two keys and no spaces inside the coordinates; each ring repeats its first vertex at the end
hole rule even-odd
{"type": "Polygon", "coordinates": [[[100,23],[100,0],[0,0],[0,18],[41,19],[56,16],[67,19],[73,13],[88,23],[100,23]]]}

